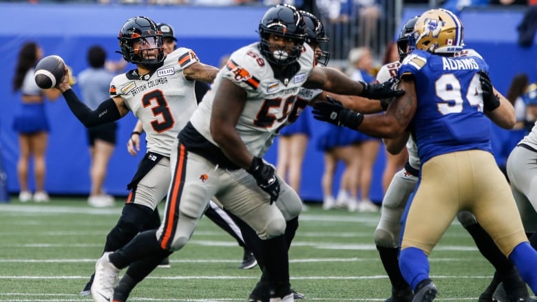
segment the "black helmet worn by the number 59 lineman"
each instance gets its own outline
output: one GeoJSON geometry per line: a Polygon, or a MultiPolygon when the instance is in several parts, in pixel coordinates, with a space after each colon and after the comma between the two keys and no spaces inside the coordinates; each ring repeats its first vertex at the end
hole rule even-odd
{"type": "Polygon", "coordinates": [[[302,54],[304,38],[306,36],[306,23],[294,6],[277,4],[269,8],[263,15],[259,24],[260,52],[269,63],[277,66],[291,65],[298,61],[302,54]],[[275,34],[285,39],[293,39],[295,46],[288,53],[285,49],[271,52],[268,36],[275,34]]]}

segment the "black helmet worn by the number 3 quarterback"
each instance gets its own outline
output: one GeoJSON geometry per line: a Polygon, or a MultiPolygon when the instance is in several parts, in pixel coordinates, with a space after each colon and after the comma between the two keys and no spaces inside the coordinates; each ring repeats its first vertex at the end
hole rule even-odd
{"type": "Polygon", "coordinates": [[[134,64],[142,64],[150,69],[160,65],[164,60],[164,47],[162,47],[162,32],[157,25],[147,17],[134,17],[123,25],[118,36],[119,47],[125,61],[134,64]],[[141,42],[147,48],[140,50],[135,48],[134,42],[141,42]],[[156,57],[145,56],[154,50],[158,50],[156,57]]]}

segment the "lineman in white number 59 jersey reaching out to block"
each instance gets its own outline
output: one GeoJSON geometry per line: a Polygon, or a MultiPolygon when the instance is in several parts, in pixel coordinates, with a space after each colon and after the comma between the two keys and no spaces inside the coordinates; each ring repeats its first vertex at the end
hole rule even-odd
{"type": "Polygon", "coordinates": [[[187,244],[213,196],[262,239],[265,269],[273,288],[270,301],[294,301],[286,220],[299,215],[302,201],[262,156],[275,131],[287,122],[303,85],[375,99],[403,91],[355,82],[335,69],[315,67],[313,50],[304,45],[304,20],[293,6],[269,8],[259,32],[260,42],[231,54],[180,132],[172,155],[167,215],[160,229],[140,233],[125,247],[99,259],[94,286],[101,285],[108,296],[120,270],[129,266],[114,288],[114,301],[126,301],[133,287],[129,274],[149,274],[151,266],[187,244]],[[285,200],[284,207],[277,208],[273,202],[280,199],[285,200]]]}

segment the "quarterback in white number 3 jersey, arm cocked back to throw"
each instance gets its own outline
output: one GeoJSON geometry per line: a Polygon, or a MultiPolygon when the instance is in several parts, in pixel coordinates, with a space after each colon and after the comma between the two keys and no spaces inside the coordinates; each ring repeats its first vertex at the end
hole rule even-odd
{"type": "MultiPolygon", "coordinates": [[[[196,80],[211,83],[218,73],[216,67],[200,63],[196,54],[184,47],[165,56],[162,34],[147,17],[129,19],[121,28],[118,39],[123,58],[136,63],[137,68],[113,78],[111,98],[95,111],[78,100],[65,79],[57,86],[74,115],[86,127],[118,120],[132,111],[147,133],[147,153],[127,186],[131,192],[120,219],[107,235],[104,252],[127,244],[154,213],[158,215],[154,210],[165,197],[171,182],[171,146],[198,107],[194,84],[196,80]]],[[[85,285],[82,295],[89,294],[93,277],[85,285]]]]}

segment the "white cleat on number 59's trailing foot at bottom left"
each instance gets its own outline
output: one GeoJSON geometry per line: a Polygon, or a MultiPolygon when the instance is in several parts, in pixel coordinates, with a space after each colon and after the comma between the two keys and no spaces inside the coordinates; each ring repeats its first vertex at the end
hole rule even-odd
{"type": "Polygon", "coordinates": [[[121,270],[108,259],[111,253],[105,252],[95,263],[95,278],[92,284],[92,298],[95,302],[111,302],[114,297],[114,286],[121,270]]]}

